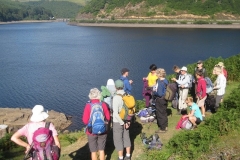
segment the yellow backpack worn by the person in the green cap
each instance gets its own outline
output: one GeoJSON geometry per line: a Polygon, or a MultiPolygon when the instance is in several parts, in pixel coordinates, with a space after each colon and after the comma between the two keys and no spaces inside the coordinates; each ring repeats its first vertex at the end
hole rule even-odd
{"type": "Polygon", "coordinates": [[[119,112],[119,116],[124,121],[131,121],[132,117],[135,113],[135,99],[132,95],[129,94],[117,94],[122,97],[123,106],[121,111],[119,112]]]}

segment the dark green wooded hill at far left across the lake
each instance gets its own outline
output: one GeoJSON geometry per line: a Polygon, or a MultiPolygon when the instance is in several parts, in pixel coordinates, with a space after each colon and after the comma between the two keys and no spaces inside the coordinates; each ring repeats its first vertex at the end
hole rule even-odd
{"type": "Polygon", "coordinates": [[[20,2],[0,0],[0,22],[28,19],[48,20],[51,17],[53,17],[51,10],[45,9],[44,7],[35,7],[20,2]]]}

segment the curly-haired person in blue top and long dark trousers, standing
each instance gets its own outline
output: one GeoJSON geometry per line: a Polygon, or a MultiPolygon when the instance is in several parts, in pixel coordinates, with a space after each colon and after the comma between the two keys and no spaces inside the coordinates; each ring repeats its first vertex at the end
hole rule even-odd
{"type": "Polygon", "coordinates": [[[168,81],[165,79],[166,72],[163,68],[158,68],[156,71],[158,76],[157,88],[154,90],[153,95],[156,97],[155,106],[156,106],[156,116],[157,116],[157,125],[159,130],[156,133],[165,133],[168,127],[168,117],[167,117],[167,101],[165,99],[165,93],[168,81]]]}

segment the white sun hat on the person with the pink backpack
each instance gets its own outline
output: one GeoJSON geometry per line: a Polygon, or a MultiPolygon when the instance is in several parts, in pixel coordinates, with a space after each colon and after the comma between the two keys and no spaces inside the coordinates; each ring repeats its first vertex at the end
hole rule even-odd
{"type": "Polygon", "coordinates": [[[47,112],[44,111],[44,108],[42,105],[35,105],[32,109],[32,116],[30,118],[30,121],[32,122],[41,122],[48,118],[47,112]]]}

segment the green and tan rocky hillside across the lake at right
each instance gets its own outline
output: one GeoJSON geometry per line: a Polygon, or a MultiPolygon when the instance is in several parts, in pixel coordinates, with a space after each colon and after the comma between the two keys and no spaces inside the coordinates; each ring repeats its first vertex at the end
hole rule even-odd
{"type": "MultiPolygon", "coordinates": [[[[240,15],[240,0],[92,0],[81,11],[93,15],[124,9],[121,16],[177,15],[212,16],[216,13],[240,15]]],[[[102,16],[104,17],[104,16],[102,16]]]]}

